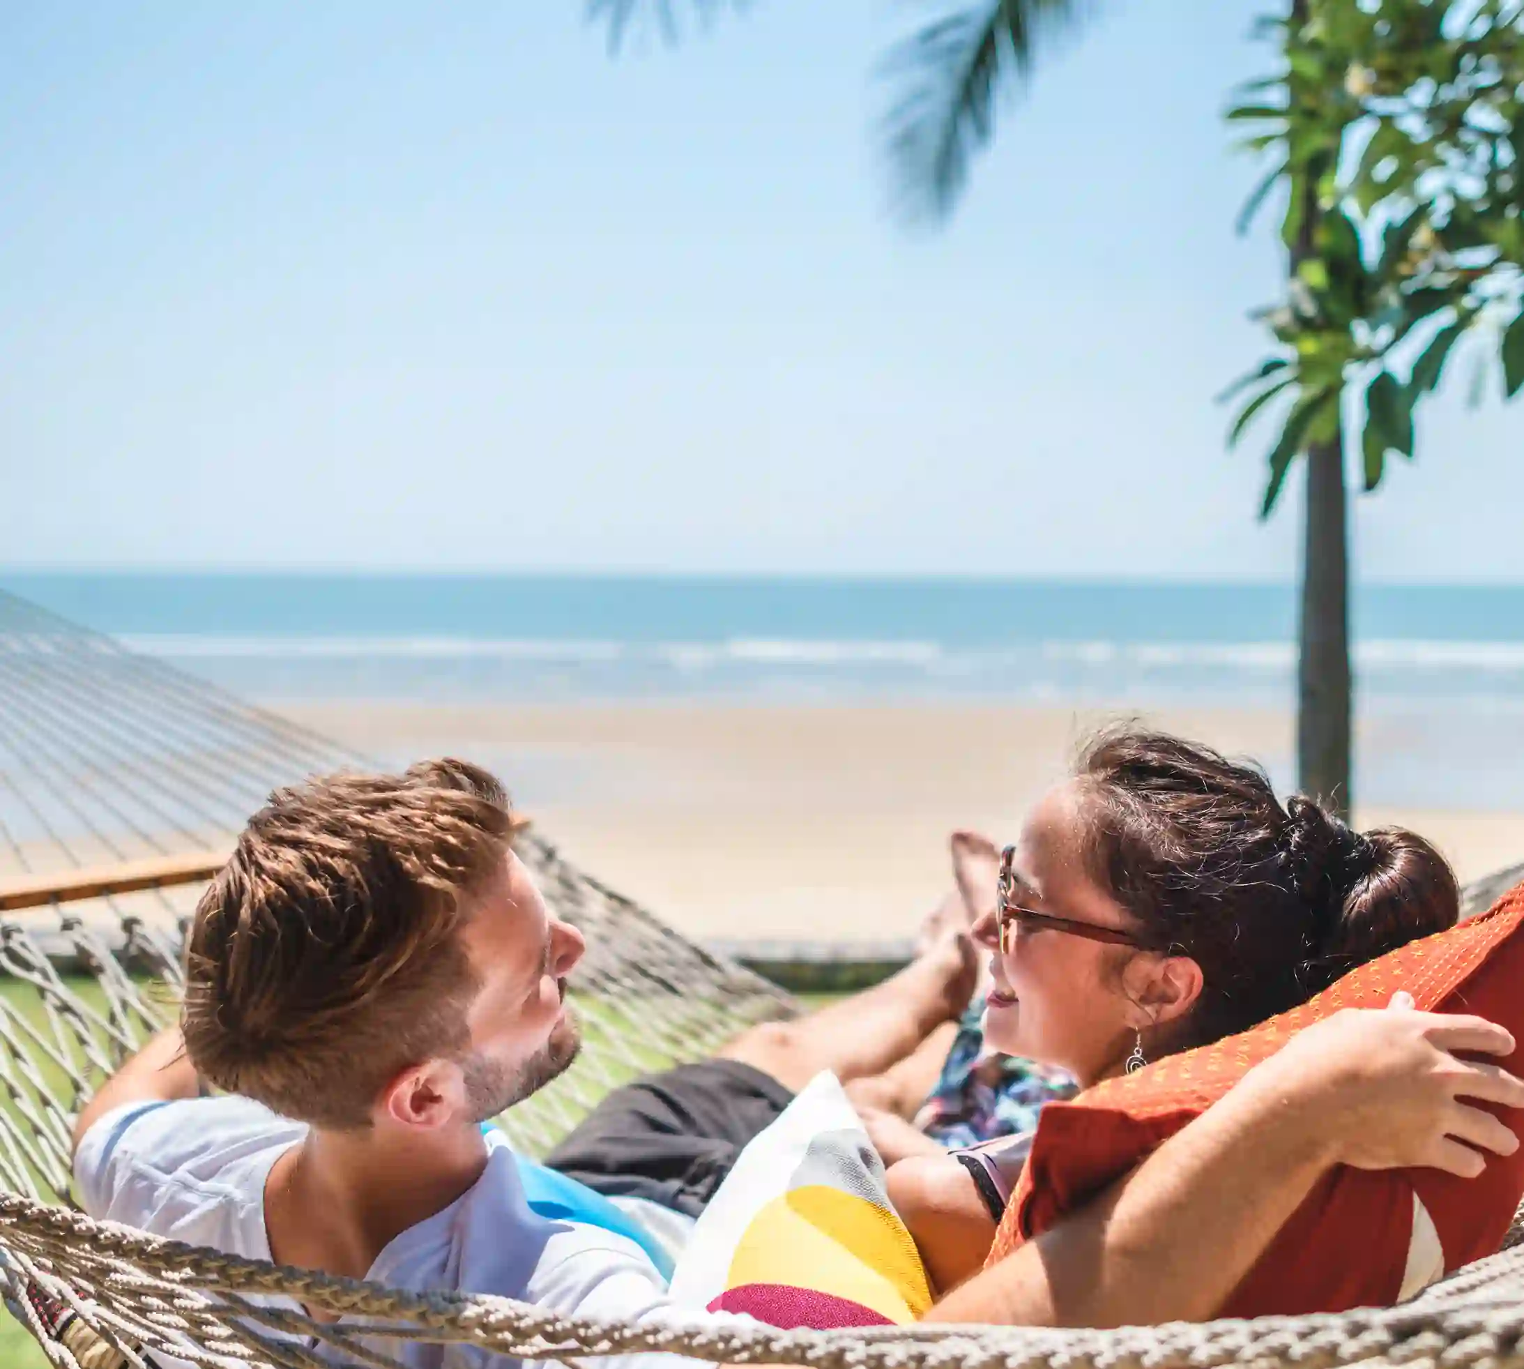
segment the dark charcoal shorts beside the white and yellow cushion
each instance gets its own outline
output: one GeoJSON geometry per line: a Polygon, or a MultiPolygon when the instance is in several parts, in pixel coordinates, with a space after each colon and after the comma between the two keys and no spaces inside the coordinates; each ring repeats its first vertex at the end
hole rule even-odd
{"type": "Polygon", "coordinates": [[[698,1217],[741,1148],[794,1095],[739,1060],[680,1064],[616,1088],[547,1157],[610,1198],[648,1198],[698,1217]]]}

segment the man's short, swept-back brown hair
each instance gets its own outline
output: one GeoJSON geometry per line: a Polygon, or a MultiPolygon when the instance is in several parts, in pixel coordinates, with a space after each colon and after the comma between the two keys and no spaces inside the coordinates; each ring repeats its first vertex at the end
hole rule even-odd
{"type": "Polygon", "coordinates": [[[465,1053],[457,931],[517,823],[465,761],[277,790],[197,906],[181,1014],[219,1088],[315,1127],[369,1125],[410,1064],[465,1053]]]}

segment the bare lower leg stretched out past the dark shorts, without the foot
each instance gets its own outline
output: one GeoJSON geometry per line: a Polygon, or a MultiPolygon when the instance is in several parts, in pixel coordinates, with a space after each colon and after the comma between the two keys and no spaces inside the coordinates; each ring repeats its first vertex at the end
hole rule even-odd
{"type": "Polygon", "coordinates": [[[796,1092],[821,1070],[843,1082],[881,1076],[963,1011],[975,974],[972,941],[946,933],[892,979],[797,1021],[750,1028],[718,1056],[750,1064],[796,1092]]]}

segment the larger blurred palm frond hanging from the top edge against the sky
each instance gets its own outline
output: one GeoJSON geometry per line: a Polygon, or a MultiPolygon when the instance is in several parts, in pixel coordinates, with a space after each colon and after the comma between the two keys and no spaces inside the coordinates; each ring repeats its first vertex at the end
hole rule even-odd
{"type": "Polygon", "coordinates": [[[952,210],[972,157],[994,136],[1001,95],[1020,93],[1033,64],[1093,8],[1094,0],[985,0],[942,12],[890,50],[885,73],[904,85],[885,119],[899,209],[920,220],[952,210]]]}

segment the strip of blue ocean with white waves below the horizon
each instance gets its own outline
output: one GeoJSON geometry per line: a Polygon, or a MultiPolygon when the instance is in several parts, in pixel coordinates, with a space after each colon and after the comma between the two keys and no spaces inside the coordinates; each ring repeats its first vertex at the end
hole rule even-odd
{"type": "MultiPolygon", "coordinates": [[[[0,572],[241,694],[421,701],[1289,706],[1266,584],[0,572]]],[[[1364,587],[1370,707],[1524,712],[1524,585],[1364,587]]]]}

